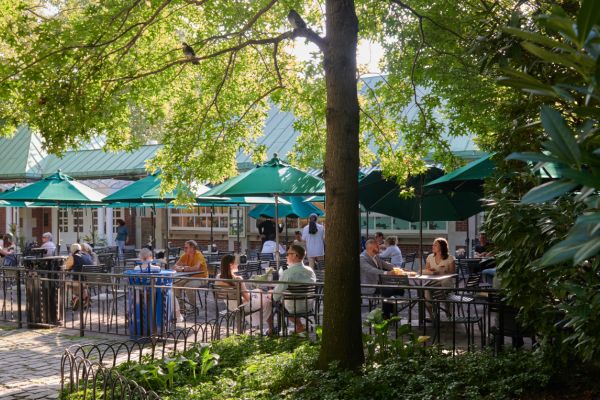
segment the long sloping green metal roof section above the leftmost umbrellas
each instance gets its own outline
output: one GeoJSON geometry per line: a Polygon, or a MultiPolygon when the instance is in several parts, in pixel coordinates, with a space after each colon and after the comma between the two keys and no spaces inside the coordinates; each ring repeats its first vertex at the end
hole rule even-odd
{"type": "Polygon", "coordinates": [[[75,179],[139,178],[147,175],[146,161],[154,158],[161,147],[162,145],[147,145],[131,152],[68,151],[62,158],[48,155],[42,163],[42,174],[48,176],[60,169],[75,179]]]}

